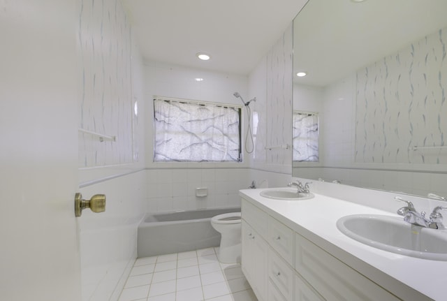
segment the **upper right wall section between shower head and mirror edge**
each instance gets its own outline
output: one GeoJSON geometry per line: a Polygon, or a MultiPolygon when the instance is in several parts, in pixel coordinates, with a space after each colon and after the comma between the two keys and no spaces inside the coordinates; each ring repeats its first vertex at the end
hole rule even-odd
{"type": "Polygon", "coordinates": [[[259,119],[251,168],[290,176],[291,149],[265,147],[292,144],[292,27],[250,73],[249,91],[257,98],[253,111],[259,119]]]}

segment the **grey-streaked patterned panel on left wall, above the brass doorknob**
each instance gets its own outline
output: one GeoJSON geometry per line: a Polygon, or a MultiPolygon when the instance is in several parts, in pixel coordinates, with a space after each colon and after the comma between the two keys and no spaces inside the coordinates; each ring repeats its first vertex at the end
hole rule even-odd
{"type": "Polygon", "coordinates": [[[79,135],[79,167],[133,161],[131,24],[119,0],[82,0],[78,15],[79,128],[116,136],[79,135]]]}

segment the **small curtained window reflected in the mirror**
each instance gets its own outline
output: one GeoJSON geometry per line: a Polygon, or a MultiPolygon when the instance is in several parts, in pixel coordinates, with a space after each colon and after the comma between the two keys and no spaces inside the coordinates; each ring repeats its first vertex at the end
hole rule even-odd
{"type": "Polygon", "coordinates": [[[318,113],[293,112],[293,161],[318,162],[318,113]]]}

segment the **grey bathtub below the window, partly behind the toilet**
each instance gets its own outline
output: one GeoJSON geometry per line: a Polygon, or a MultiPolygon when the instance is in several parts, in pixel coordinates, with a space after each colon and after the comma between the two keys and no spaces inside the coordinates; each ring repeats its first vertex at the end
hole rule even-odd
{"type": "Polygon", "coordinates": [[[146,214],[138,225],[137,256],[149,257],[217,247],[221,235],[212,216],[240,212],[240,207],[146,214]]]}

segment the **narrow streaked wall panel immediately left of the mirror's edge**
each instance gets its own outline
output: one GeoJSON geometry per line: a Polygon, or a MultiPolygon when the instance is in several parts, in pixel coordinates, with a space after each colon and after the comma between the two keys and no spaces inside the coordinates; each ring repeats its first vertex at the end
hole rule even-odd
{"type": "MultiPolygon", "coordinates": [[[[267,146],[292,144],[292,27],[267,56],[267,146]]],[[[267,151],[266,163],[290,165],[291,149],[274,148],[267,151]]]]}

